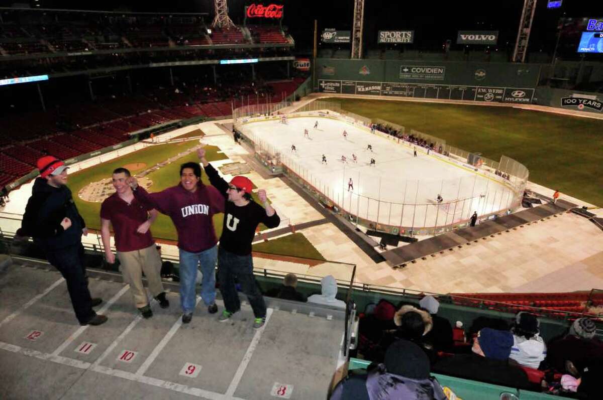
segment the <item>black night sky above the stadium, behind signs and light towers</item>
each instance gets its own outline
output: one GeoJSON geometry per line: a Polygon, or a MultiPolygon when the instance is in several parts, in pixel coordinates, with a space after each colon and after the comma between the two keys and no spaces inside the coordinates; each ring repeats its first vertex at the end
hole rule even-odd
{"type": "MultiPolygon", "coordinates": [[[[297,43],[297,50],[312,47],[314,19],[319,32],[323,28],[350,30],[353,0],[229,0],[229,14],[235,23],[243,22],[246,4],[285,4],[283,26],[297,43]]],[[[27,1],[23,1],[27,3],[27,1]]],[[[0,1],[10,6],[14,1],[0,1]]],[[[133,11],[133,12],[188,12],[208,13],[213,17],[213,0],[124,1],[124,0],[31,0],[32,7],[67,8],[75,10],[133,11]]],[[[558,9],[546,8],[547,0],[539,0],[529,40],[529,51],[552,53],[560,17],[603,17],[603,1],[563,0],[558,9]]],[[[414,49],[437,51],[447,39],[455,42],[458,30],[497,30],[500,50],[513,48],[523,0],[461,0],[461,1],[400,1],[366,0],[364,19],[365,48],[376,48],[379,30],[414,30],[414,49]]],[[[256,21],[254,21],[256,23],[256,21]]],[[[453,45],[452,49],[455,45],[453,45]]],[[[456,48],[458,49],[458,47],[456,48]]]]}

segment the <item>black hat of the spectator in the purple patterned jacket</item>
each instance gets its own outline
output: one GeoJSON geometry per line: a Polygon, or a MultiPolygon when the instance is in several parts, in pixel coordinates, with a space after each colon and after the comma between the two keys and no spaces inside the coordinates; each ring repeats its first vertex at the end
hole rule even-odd
{"type": "Polygon", "coordinates": [[[429,358],[425,351],[408,340],[397,340],[385,352],[387,372],[411,379],[429,378],[429,358]]]}

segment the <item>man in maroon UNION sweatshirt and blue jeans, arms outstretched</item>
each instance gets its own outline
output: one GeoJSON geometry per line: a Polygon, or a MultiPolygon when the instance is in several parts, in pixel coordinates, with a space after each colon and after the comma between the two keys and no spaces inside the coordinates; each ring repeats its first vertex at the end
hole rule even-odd
{"type": "Polygon", "coordinates": [[[197,266],[201,264],[201,298],[211,314],[218,312],[215,304],[215,267],[218,249],[212,216],[224,212],[224,198],[213,186],[201,183],[201,166],[184,163],[180,166],[180,184],[157,193],[148,193],[138,186],[136,178],[128,178],[134,197],[160,213],[168,215],[178,232],[180,255],[180,302],[182,322],[189,323],[195,309],[197,266]]]}

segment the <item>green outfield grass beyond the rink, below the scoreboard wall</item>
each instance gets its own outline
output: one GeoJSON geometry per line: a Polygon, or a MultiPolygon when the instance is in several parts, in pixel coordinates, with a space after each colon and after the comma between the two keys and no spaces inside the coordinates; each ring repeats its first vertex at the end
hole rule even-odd
{"type": "Polygon", "coordinates": [[[344,110],[529,169],[529,180],[603,206],[603,120],[511,107],[336,98],[344,110]]]}

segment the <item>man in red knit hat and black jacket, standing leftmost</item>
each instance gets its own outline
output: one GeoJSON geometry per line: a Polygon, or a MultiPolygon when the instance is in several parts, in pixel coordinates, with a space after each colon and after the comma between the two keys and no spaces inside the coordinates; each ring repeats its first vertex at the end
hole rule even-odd
{"type": "Polygon", "coordinates": [[[58,158],[46,155],[37,160],[37,167],[40,177],[34,181],[21,231],[33,237],[49,263],[65,278],[80,325],[100,325],[107,317],[92,309],[102,300],[93,299],[88,290],[84,246],[81,245],[81,236],[88,231],[66,186],[67,166],[58,158]]]}

